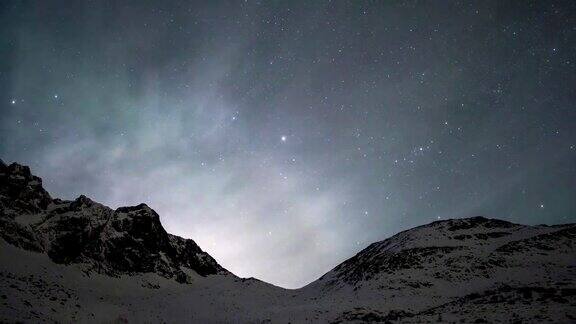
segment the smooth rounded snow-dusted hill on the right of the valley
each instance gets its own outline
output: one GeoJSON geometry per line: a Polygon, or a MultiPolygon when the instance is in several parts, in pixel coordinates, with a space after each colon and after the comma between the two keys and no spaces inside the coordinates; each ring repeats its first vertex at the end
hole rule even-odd
{"type": "Polygon", "coordinates": [[[567,322],[576,320],[575,288],[576,224],[472,217],[373,243],[303,290],[354,296],[358,316],[383,321],[567,322]]]}

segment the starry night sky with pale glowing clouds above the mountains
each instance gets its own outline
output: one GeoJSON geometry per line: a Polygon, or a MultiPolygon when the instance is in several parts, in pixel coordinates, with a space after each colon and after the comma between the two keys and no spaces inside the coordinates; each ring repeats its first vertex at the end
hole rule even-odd
{"type": "Polygon", "coordinates": [[[302,286],[437,219],[576,222],[576,2],[2,1],[0,158],[302,286]]]}

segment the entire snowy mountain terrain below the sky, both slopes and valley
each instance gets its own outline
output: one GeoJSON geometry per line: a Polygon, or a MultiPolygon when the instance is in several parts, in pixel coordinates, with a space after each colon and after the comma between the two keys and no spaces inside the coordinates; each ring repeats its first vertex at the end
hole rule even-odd
{"type": "Polygon", "coordinates": [[[288,290],[238,278],[144,204],[52,199],[0,162],[0,237],[0,322],[576,321],[576,224],[433,222],[288,290]]]}

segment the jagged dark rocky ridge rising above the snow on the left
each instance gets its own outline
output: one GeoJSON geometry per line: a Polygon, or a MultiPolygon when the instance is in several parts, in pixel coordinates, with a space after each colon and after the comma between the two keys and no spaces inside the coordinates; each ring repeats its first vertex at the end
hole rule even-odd
{"type": "Polygon", "coordinates": [[[16,163],[0,163],[0,229],[10,244],[110,275],[155,272],[187,282],[181,267],[227,273],[194,241],[168,234],[147,205],[112,210],[85,196],[52,199],[42,180],[16,163]]]}

